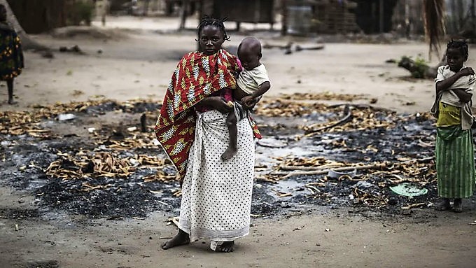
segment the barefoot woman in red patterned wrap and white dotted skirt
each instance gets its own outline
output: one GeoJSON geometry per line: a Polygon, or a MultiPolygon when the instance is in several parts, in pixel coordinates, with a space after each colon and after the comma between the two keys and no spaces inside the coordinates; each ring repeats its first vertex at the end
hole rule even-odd
{"type": "Polygon", "coordinates": [[[228,101],[240,67],[237,58],[222,49],[229,40],[223,20],[204,17],[198,37],[202,52],[190,52],[179,62],[155,127],[183,178],[179,233],[162,248],[208,238],[213,250],[231,252],[235,239],[249,232],[253,137],[260,134],[251,118],[241,120],[241,149],[232,159],[221,160],[229,143],[228,101]]]}

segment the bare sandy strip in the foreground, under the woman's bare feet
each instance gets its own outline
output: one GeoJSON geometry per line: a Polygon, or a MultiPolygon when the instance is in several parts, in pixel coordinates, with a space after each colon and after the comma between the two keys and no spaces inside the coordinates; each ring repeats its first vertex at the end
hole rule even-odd
{"type": "MultiPolygon", "coordinates": [[[[0,188],[1,206],[32,208],[32,199],[0,188]],[[20,203],[21,202],[21,203],[20,203]]],[[[1,208],[1,207],[0,207],[1,208]]],[[[253,219],[235,253],[209,251],[209,241],[159,249],[176,233],[163,213],[145,220],[85,220],[48,213],[29,220],[0,218],[0,267],[472,267],[472,213],[416,211],[411,217],[352,216],[314,211],[281,220],[253,219]],[[19,230],[15,231],[15,224],[19,230]],[[25,266],[23,266],[25,267],[25,266]],[[46,267],[46,266],[41,266],[46,267]],[[51,266],[50,266],[51,267],[51,266]]]]}

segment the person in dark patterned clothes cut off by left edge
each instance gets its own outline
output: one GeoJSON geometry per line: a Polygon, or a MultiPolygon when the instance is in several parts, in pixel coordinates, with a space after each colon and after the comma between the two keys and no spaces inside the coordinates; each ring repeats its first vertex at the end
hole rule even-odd
{"type": "Polygon", "coordinates": [[[8,104],[13,101],[13,80],[22,73],[23,52],[20,38],[7,22],[6,8],[0,5],[0,80],[8,87],[8,104]]]}

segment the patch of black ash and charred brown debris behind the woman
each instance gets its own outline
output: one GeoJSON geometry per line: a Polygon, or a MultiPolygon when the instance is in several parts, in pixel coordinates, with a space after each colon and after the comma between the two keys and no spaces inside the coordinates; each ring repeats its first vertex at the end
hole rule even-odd
{"type": "MultiPolygon", "coordinates": [[[[176,171],[153,141],[159,108],[147,101],[71,105],[62,111],[74,115],[70,120],[57,120],[57,113],[48,113],[36,122],[36,129],[45,130],[40,134],[8,132],[12,127],[8,123],[15,122],[11,113],[3,113],[0,119],[6,126],[0,134],[0,183],[31,192],[45,210],[58,209],[88,218],[143,218],[152,211],[176,215],[180,207],[176,171]],[[140,132],[144,128],[141,118],[147,124],[146,132],[140,132]]],[[[406,214],[413,206],[431,209],[437,201],[434,121],[423,115],[377,111],[372,117],[380,125],[365,125],[367,121],[354,115],[349,127],[310,135],[303,127],[325,125],[339,116],[335,110],[309,111],[293,117],[258,113],[255,119],[262,125],[265,139],[256,144],[253,216],[326,208],[384,214],[406,214]],[[305,163],[309,160],[376,164],[379,168],[358,169],[352,176],[338,178],[299,172],[286,175],[294,171],[279,168],[289,163],[309,167],[305,163]],[[412,160],[421,162],[411,170],[392,166],[412,160]],[[418,197],[397,195],[389,188],[397,182],[413,183],[428,192],[418,197]]],[[[37,213],[42,212],[34,216],[37,213]]]]}

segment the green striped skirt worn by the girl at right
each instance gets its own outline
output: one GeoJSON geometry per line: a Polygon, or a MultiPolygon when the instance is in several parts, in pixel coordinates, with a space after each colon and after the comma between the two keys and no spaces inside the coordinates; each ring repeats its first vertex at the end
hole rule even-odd
{"type": "Polygon", "coordinates": [[[436,136],[438,195],[468,198],[475,191],[475,161],[471,129],[438,127],[436,136]]]}

